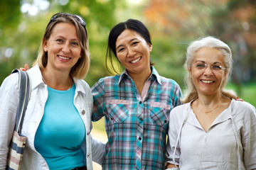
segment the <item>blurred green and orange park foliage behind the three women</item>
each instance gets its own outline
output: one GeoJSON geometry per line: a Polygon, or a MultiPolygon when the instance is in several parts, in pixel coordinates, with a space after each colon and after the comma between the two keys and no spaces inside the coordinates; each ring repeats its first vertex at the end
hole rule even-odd
{"type": "MultiPolygon", "coordinates": [[[[85,81],[90,86],[110,75],[105,55],[111,28],[135,18],[151,33],[154,67],[161,76],[177,81],[182,90],[188,43],[206,35],[226,42],[233,50],[228,89],[256,106],[255,0],[1,0],[0,84],[12,69],[25,63],[31,67],[50,17],[58,12],[85,18],[91,53],[85,81]]],[[[106,142],[104,120],[93,125],[92,134],[106,142]]]]}

